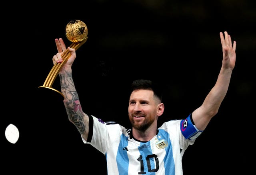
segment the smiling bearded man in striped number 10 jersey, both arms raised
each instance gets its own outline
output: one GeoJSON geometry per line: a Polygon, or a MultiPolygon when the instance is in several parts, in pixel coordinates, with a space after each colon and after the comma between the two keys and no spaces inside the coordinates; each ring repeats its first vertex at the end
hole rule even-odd
{"type": "MultiPolygon", "coordinates": [[[[222,44],[222,67],[214,87],[202,105],[186,119],[164,122],[157,128],[158,117],[164,112],[162,94],[157,85],[149,80],[132,83],[128,115],[132,129],[128,130],[116,122],[103,122],[95,116],[85,114],[72,79],[72,63],[75,49],[59,72],[61,92],[69,120],[76,126],[86,144],[91,144],[107,160],[108,174],[116,175],[182,175],[182,156],[189,145],[204,131],[211,118],[216,115],[230,83],[236,62],[236,41],[225,31],[220,32],[222,44]]],[[[63,40],[55,39],[58,53],[53,63],[62,62],[61,54],[66,50],[63,40]]]]}

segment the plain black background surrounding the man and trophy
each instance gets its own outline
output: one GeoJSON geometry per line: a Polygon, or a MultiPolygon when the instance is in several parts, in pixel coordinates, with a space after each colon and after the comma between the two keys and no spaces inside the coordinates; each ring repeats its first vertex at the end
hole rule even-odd
{"type": "MultiPolygon", "coordinates": [[[[222,62],[220,31],[236,40],[228,93],[183,157],[184,175],[247,174],[254,155],[256,6],[253,0],[87,0],[2,6],[1,169],[106,174],[102,153],[83,144],[62,96],[42,86],[65,27],[82,20],[88,40],[76,52],[73,78],[84,112],[127,128],[134,79],[164,85],[165,121],[185,118],[214,86],[222,62]],[[58,3],[60,5],[58,5],[58,3]],[[16,144],[4,136],[17,126],[16,144]]],[[[60,90],[57,77],[53,88],[60,90]]]]}

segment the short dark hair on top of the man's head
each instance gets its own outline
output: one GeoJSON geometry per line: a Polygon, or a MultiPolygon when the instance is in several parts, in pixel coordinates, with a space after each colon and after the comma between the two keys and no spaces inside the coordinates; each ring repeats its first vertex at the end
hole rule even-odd
{"type": "Polygon", "coordinates": [[[160,88],[158,83],[145,79],[134,80],[131,85],[130,93],[137,89],[152,90],[154,92],[154,95],[162,101],[162,89],[160,88]]]}

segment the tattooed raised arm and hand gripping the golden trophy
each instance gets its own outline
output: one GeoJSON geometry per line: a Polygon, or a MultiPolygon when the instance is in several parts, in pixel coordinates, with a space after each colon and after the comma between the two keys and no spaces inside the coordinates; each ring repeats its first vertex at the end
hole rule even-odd
{"type": "MultiPolygon", "coordinates": [[[[66,50],[66,45],[62,38],[55,39],[55,43],[58,53],[52,58],[54,64],[63,61],[61,55],[66,50]]],[[[68,114],[68,119],[76,126],[83,138],[87,140],[89,132],[89,118],[88,115],[82,111],[78,93],[76,92],[72,78],[71,67],[76,58],[76,51],[70,47],[67,49],[70,51],[71,56],[59,71],[61,92],[65,96],[63,102],[68,114]]]]}

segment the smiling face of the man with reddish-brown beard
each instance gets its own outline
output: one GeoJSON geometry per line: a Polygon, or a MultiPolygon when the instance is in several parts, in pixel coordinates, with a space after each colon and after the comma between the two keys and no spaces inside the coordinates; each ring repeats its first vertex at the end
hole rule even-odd
{"type": "Polygon", "coordinates": [[[152,90],[134,90],[130,95],[128,114],[136,130],[145,131],[157,120],[158,100],[152,90]]]}

